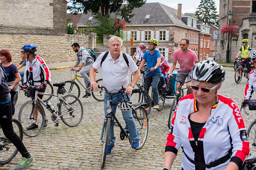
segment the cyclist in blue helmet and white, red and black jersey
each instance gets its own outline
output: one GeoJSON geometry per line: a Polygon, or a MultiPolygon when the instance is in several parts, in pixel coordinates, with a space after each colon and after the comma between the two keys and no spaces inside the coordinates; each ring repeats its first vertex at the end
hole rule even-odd
{"type": "MultiPolygon", "coordinates": [[[[46,84],[51,81],[51,73],[43,58],[35,54],[35,52],[37,51],[36,48],[37,46],[32,44],[27,44],[21,48],[25,50],[25,56],[27,58],[22,89],[26,89],[27,84],[29,83],[33,86],[39,86],[40,89],[38,90],[38,92],[45,92],[46,84]]],[[[38,95],[38,97],[42,99],[43,95],[38,95]]],[[[33,112],[33,116],[34,115],[35,111],[33,112]]],[[[30,126],[26,128],[27,130],[33,130],[35,128],[38,128],[37,115],[38,109],[36,112],[35,120],[32,122],[30,126]]],[[[44,127],[47,126],[47,122],[48,120],[45,116],[44,127]]]]}

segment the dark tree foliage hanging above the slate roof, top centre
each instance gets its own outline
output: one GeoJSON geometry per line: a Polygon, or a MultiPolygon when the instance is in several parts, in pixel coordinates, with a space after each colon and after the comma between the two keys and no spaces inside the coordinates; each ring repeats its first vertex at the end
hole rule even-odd
{"type": "Polygon", "coordinates": [[[106,16],[110,13],[115,13],[122,3],[127,3],[122,7],[122,17],[124,21],[130,22],[133,17],[132,11],[134,7],[140,7],[146,3],[146,0],[69,0],[67,9],[73,14],[77,13],[101,13],[106,16]]]}

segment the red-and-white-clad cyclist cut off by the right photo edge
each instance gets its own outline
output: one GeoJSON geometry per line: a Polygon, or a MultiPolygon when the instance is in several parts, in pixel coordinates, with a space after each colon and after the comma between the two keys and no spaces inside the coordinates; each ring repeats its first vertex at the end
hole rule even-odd
{"type": "MultiPolygon", "coordinates": [[[[256,52],[254,52],[251,56],[254,67],[256,67],[256,52]]],[[[244,97],[244,106],[243,108],[245,108],[248,104],[248,100],[251,99],[253,92],[256,90],[256,70],[253,69],[249,75],[248,75],[248,80],[245,86],[245,97],[244,97]]]]}

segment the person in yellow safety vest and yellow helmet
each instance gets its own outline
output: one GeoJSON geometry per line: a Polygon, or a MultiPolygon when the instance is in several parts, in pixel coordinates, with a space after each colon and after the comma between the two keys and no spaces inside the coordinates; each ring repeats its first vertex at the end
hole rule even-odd
{"type": "Polygon", "coordinates": [[[239,52],[237,53],[236,57],[241,55],[242,58],[247,58],[246,60],[246,67],[247,67],[247,73],[251,72],[251,50],[252,48],[247,45],[248,44],[248,39],[243,39],[243,45],[240,48],[239,52]]]}

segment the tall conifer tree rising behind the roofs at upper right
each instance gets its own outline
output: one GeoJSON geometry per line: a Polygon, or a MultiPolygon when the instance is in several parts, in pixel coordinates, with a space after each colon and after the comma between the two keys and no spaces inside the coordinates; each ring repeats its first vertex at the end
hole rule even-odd
{"type": "Polygon", "coordinates": [[[200,5],[196,9],[196,16],[199,21],[218,26],[219,16],[213,0],[201,0],[200,5]]]}

